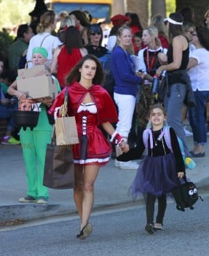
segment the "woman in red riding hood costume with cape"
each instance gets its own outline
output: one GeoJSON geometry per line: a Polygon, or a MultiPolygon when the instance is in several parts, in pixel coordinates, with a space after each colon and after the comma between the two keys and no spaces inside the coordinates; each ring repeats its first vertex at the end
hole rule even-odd
{"type": "Polygon", "coordinates": [[[103,82],[103,67],[95,56],[88,54],[66,77],[66,89],[61,91],[49,110],[50,114],[64,110],[68,116],[75,116],[79,144],[73,145],[75,164],[74,200],[81,226],[77,238],[84,239],[92,233],[89,222],[94,200],[94,182],[100,165],[109,162],[111,145],[103,129],[111,136],[111,142],[129,150],[123,138],[117,134],[111,123],[117,122],[117,111],[108,92],[100,86],[103,82]],[[65,92],[68,90],[68,106],[63,109],[65,92]]]}

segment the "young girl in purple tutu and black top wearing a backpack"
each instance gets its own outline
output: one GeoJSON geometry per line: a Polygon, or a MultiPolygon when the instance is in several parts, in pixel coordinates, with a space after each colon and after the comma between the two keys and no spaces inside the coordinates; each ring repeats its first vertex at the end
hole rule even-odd
{"type": "Polygon", "coordinates": [[[177,187],[178,178],[185,174],[185,164],[178,144],[178,138],[172,127],[170,143],[167,143],[166,111],[161,105],[153,105],[149,110],[149,124],[151,128],[144,130],[143,139],[138,146],[131,148],[127,153],[117,157],[119,161],[139,159],[145,148],[147,155],[138,167],[135,179],[131,186],[131,193],[135,199],[143,194],[146,198],[146,226],[149,234],[162,230],[163,217],[166,209],[166,195],[177,187]],[[167,144],[171,144],[167,146],[167,144]],[[154,203],[158,200],[158,211],[154,223],[154,203]]]}

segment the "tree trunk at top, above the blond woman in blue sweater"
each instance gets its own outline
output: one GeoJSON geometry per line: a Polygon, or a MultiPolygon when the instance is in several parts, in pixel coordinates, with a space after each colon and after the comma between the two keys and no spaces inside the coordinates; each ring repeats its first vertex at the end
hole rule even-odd
{"type": "Polygon", "coordinates": [[[143,28],[148,25],[148,0],[127,0],[127,12],[135,12],[138,14],[143,28]]]}

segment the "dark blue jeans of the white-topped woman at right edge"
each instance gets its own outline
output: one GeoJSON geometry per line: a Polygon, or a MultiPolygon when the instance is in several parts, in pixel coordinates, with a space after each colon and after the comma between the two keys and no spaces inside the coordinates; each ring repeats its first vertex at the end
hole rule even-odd
{"type": "Polygon", "coordinates": [[[194,144],[204,145],[207,142],[205,129],[205,105],[209,91],[194,91],[197,106],[189,108],[189,122],[192,127],[194,144]]]}

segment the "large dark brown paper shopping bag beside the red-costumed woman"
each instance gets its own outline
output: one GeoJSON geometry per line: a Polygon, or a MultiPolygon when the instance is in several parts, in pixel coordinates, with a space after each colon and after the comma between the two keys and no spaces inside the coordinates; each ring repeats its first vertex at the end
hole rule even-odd
{"type": "Polygon", "coordinates": [[[43,185],[51,189],[73,189],[75,184],[73,151],[70,145],[56,146],[55,132],[47,144],[43,185]]]}

